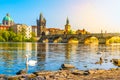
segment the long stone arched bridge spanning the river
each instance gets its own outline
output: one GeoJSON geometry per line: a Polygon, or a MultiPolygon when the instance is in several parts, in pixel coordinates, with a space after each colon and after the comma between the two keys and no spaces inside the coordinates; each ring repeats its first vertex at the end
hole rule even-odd
{"type": "Polygon", "coordinates": [[[120,33],[91,33],[91,34],[61,34],[61,35],[43,35],[40,36],[39,42],[48,40],[53,43],[57,39],[61,39],[60,43],[67,43],[70,39],[77,39],[79,43],[84,43],[86,39],[95,37],[98,39],[99,44],[106,44],[106,41],[112,37],[120,37],[120,33]]]}

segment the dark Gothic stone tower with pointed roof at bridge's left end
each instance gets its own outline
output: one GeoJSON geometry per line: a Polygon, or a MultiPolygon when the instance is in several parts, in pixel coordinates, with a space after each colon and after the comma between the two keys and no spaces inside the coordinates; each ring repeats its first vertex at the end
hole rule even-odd
{"type": "Polygon", "coordinates": [[[40,13],[39,19],[37,20],[37,36],[45,35],[46,31],[46,19],[43,17],[42,13],[40,13]]]}

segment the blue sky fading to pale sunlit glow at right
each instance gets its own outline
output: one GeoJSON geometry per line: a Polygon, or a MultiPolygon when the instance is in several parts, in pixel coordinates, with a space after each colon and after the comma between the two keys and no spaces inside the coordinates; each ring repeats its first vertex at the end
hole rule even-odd
{"type": "Polygon", "coordinates": [[[120,0],[0,0],[0,23],[6,13],[28,26],[42,13],[47,28],[64,29],[68,17],[73,30],[120,32],[120,0]]]}

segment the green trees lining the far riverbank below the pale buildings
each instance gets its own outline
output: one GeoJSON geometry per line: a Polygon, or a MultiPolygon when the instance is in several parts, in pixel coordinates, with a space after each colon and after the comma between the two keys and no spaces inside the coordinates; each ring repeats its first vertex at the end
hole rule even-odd
{"type": "Polygon", "coordinates": [[[31,33],[32,37],[26,39],[24,30],[22,33],[14,33],[12,30],[0,31],[0,42],[35,42],[35,34],[31,33]]]}

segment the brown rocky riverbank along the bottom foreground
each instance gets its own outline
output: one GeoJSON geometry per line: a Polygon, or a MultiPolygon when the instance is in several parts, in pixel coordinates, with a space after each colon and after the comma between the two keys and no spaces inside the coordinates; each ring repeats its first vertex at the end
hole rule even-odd
{"type": "Polygon", "coordinates": [[[32,74],[21,74],[6,77],[0,75],[0,80],[120,80],[120,69],[110,70],[59,70],[41,71],[32,74]]]}

